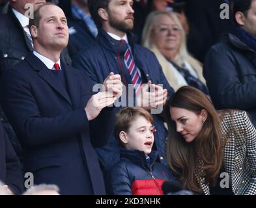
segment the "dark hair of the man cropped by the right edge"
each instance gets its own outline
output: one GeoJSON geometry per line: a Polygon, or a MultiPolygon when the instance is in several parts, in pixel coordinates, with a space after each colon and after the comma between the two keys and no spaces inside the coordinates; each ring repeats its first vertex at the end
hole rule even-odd
{"type": "MultiPolygon", "coordinates": [[[[232,0],[231,1],[231,11],[233,14],[233,19],[236,23],[236,12],[242,12],[245,16],[248,15],[248,10],[251,8],[251,3],[255,0],[232,0]]],[[[236,23],[237,24],[237,23],[236,23]]]]}

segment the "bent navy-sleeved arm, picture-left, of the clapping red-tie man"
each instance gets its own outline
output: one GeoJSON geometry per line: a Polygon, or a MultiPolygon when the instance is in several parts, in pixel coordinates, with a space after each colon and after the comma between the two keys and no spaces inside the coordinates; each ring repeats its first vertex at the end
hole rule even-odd
{"type": "Polygon", "coordinates": [[[14,131],[26,146],[56,142],[89,129],[85,109],[53,118],[42,117],[33,90],[20,70],[10,69],[3,75],[1,104],[14,131]]]}

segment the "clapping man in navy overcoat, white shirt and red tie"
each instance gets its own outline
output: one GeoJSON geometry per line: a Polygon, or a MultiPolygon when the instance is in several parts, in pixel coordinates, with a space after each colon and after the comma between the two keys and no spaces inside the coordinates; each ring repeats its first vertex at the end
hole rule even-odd
{"type": "Polygon", "coordinates": [[[110,73],[105,91],[92,95],[89,77],[60,61],[68,26],[59,6],[41,6],[29,25],[35,50],[1,79],[1,103],[23,146],[25,171],[61,194],[105,194],[92,146],[104,146],[113,131],[115,114],[105,107],[121,96],[121,77],[110,73]]]}

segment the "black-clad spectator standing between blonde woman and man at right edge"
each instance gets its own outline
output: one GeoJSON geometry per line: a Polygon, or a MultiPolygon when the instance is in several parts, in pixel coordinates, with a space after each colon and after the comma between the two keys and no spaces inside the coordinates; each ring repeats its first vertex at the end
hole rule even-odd
{"type": "Polygon", "coordinates": [[[227,2],[225,0],[175,0],[175,3],[180,2],[185,3],[184,14],[189,25],[188,51],[195,59],[204,62],[207,51],[218,41],[221,32],[228,31],[231,26],[231,17],[230,19],[220,18],[220,5],[227,2]]]}

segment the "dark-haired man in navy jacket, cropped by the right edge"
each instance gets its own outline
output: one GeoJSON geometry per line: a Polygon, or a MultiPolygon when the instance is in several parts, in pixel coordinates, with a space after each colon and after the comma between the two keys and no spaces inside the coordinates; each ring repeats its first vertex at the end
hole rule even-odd
{"type": "Polygon", "coordinates": [[[233,1],[235,24],[208,51],[203,75],[217,109],[241,109],[256,127],[255,0],[233,1]]]}

